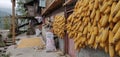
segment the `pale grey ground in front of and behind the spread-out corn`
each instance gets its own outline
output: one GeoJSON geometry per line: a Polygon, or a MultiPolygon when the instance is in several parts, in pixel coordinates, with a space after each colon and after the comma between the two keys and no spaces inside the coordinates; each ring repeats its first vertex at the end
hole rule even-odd
{"type": "MultiPolygon", "coordinates": [[[[36,37],[34,35],[26,36],[22,34],[17,36],[16,39],[36,37]]],[[[55,52],[46,52],[46,49],[38,49],[36,47],[28,47],[28,48],[16,48],[16,45],[11,45],[6,50],[6,54],[9,54],[10,57],[68,57],[63,55],[63,53],[58,50],[55,52]],[[63,55],[63,56],[61,56],[63,55]]]]}

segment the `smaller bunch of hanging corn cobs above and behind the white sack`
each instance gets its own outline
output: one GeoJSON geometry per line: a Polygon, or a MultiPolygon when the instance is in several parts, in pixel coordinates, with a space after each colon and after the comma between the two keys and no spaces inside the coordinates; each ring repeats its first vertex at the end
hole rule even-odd
{"type": "Polygon", "coordinates": [[[55,16],[53,21],[53,31],[58,37],[64,37],[64,29],[65,28],[65,18],[64,16],[55,16]]]}

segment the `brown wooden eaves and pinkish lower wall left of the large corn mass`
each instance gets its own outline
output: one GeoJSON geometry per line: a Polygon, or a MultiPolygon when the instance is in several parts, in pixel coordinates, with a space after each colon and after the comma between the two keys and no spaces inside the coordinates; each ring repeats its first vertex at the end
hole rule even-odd
{"type": "MultiPolygon", "coordinates": [[[[73,12],[76,1],[77,0],[47,0],[46,7],[42,8],[41,14],[48,20],[54,20],[56,15],[62,15],[67,19],[73,12]]],[[[59,38],[59,48],[71,57],[77,56],[77,51],[74,49],[74,42],[68,38],[67,33],[63,39],[59,38]]]]}

